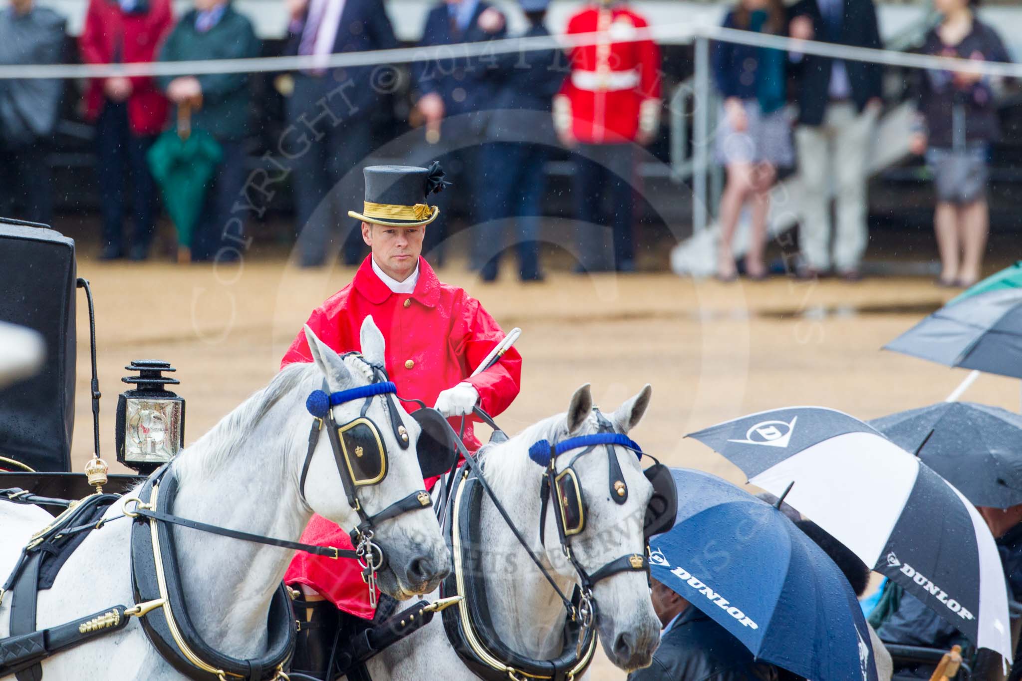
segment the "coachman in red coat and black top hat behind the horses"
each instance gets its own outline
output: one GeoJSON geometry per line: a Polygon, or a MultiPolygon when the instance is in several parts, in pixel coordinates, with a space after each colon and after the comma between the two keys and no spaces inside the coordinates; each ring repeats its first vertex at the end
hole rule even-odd
{"type": "MultiPolygon", "coordinates": [[[[349,214],[362,221],[362,238],[372,253],[351,284],[313,310],[308,325],[334,350],[358,350],[359,329],[372,314],[386,339],[387,375],[402,397],[435,404],[449,419],[470,415],[476,404],[493,416],[502,412],[518,394],[521,356],[512,348],[469,378],[504,332],[478,300],[439,282],[420,256],[426,226],[439,213],[427,197],[449,184],[439,164],[373,165],[364,175],[365,206],[349,214]]],[[[303,332],[281,366],[293,361],[312,361],[303,332]]],[[[469,450],[479,447],[471,423],[466,423],[464,442],[469,450]]],[[[426,481],[427,489],[434,480],[426,481]]],[[[347,533],[319,516],[313,517],[301,541],[351,547],[347,533]]],[[[312,625],[299,632],[294,667],[322,678],[337,609],[364,619],[375,613],[361,571],[354,561],[298,553],[284,581],[304,592],[295,612],[303,625],[312,625]]]]}

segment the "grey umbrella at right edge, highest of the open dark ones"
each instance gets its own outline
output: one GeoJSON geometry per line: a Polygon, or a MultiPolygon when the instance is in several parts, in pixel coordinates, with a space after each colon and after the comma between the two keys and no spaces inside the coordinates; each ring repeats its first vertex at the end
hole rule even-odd
{"type": "Polygon", "coordinates": [[[1022,379],[1022,289],[977,293],[944,305],[884,349],[1022,379]]]}

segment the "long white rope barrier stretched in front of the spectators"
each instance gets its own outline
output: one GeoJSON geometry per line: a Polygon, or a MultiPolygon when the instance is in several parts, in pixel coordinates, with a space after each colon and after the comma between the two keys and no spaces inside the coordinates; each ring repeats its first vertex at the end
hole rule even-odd
{"type": "Polygon", "coordinates": [[[912,54],[867,47],[850,47],[820,41],[783,38],[781,36],[771,36],[750,31],[725,29],[723,27],[694,26],[691,22],[678,22],[646,29],[635,29],[628,35],[620,35],[617,31],[593,32],[570,36],[508,38],[485,42],[458,43],[455,45],[401,47],[390,50],[342,52],[330,55],[158,61],[124,64],[0,64],[0,80],[88,79],[117,76],[200,76],[205,74],[311,70],[343,68],[347,66],[385,66],[416,61],[443,61],[467,57],[484,58],[498,54],[555,48],[566,49],[607,42],[631,43],[642,40],[654,40],[661,45],[686,45],[696,38],[708,38],[754,47],[773,47],[789,52],[814,54],[850,61],[868,61],[886,66],[964,71],[1001,78],[1022,78],[1022,64],[912,54]]]}

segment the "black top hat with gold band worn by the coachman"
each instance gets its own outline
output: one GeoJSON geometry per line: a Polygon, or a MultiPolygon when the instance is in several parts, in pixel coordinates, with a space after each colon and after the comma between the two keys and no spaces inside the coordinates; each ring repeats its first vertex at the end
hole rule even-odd
{"type": "Polygon", "coordinates": [[[418,227],[433,222],[440,209],[426,203],[426,199],[451,184],[444,179],[444,169],[436,161],[429,167],[369,165],[363,175],[365,206],[362,212],[349,210],[347,214],[384,227],[418,227]]]}

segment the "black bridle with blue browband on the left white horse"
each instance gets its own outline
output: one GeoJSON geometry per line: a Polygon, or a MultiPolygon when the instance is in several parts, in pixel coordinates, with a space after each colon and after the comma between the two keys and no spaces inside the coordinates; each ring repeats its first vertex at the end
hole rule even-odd
{"type": "Polygon", "coordinates": [[[369,588],[370,605],[376,606],[376,573],[386,565],[386,555],[383,550],[373,542],[375,528],[385,520],[396,518],[402,514],[426,508],[432,505],[432,499],[425,489],[412,492],[408,496],[394,501],[377,514],[369,515],[359,501],[357,490],[362,486],[377,485],[383,481],[388,468],[388,457],[386,446],[380,438],[379,429],[376,424],[366,416],[372,405],[373,398],[384,396],[384,404],[389,416],[390,428],[393,432],[398,446],[408,449],[411,444],[408,429],[402,422],[401,411],[394,403],[398,387],[393,382],[387,380],[386,372],[382,367],[369,362],[365,357],[357,352],[346,352],[341,357],[355,356],[366,362],[373,373],[373,382],[330,393],[326,390],[316,390],[309,395],[306,401],[306,408],[313,415],[312,430],[309,433],[309,450],[306,453],[306,460],[301,467],[301,477],[298,482],[298,492],[303,501],[306,501],[306,478],[309,475],[309,467],[312,463],[316,445],[319,442],[320,431],[326,425],[327,436],[330,439],[330,448],[333,451],[334,463],[337,467],[337,474],[344,487],[344,495],[347,504],[359,515],[359,525],[352,530],[352,543],[356,547],[359,565],[362,566],[362,579],[369,588]],[[364,399],[360,416],[346,424],[337,424],[333,418],[332,407],[345,402],[364,399]],[[360,460],[363,459],[363,460],[360,460]],[[372,473],[360,474],[369,469],[372,473]]]}

